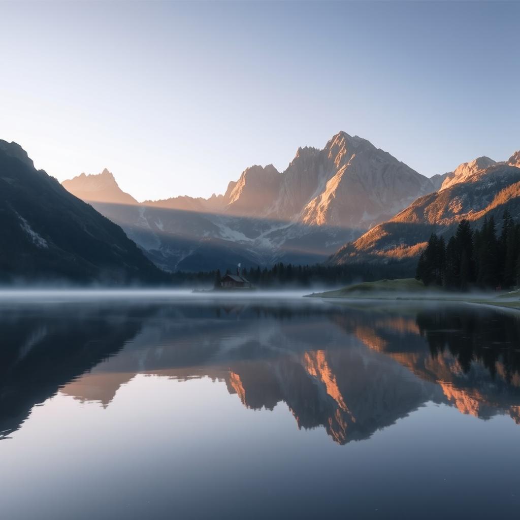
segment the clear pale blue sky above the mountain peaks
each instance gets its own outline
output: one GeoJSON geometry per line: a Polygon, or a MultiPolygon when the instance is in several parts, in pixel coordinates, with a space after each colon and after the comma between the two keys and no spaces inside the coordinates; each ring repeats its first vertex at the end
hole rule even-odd
{"type": "Polygon", "coordinates": [[[0,138],[138,200],[340,130],[431,176],[520,149],[518,2],[0,2],[0,138]]]}

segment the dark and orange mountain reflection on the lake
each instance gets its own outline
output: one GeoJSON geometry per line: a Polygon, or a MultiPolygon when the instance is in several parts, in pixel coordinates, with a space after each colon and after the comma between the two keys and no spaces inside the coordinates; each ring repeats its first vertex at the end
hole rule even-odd
{"type": "MultiPolygon", "coordinates": [[[[136,374],[224,381],[298,428],[369,438],[428,401],[520,423],[520,319],[472,306],[19,304],[0,314],[0,436],[59,392],[110,407],[136,374]]],[[[160,399],[160,396],[158,396],[160,399]]]]}

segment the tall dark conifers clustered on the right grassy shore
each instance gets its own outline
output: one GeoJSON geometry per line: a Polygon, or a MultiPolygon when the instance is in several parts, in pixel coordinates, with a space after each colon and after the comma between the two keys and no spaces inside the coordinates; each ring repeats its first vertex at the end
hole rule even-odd
{"type": "Polygon", "coordinates": [[[474,230],[468,220],[461,220],[447,243],[432,233],[415,278],[425,285],[460,291],[516,287],[520,283],[520,224],[505,210],[500,235],[492,215],[474,230]]]}

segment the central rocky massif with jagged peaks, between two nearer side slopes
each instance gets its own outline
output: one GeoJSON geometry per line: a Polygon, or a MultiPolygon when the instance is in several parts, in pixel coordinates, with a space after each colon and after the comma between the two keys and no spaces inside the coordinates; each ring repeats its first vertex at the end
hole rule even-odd
{"type": "Polygon", "coordinates": [[[63,186],[171,271],[321,262],[436,188],[389,153],[345,132],[321,150],[298,148],[281,173],[272,164],[246,168],[224,194],[209,199],[124,202],[128,194],[107,174],[82,174],[63,186]]]}

